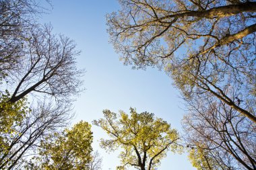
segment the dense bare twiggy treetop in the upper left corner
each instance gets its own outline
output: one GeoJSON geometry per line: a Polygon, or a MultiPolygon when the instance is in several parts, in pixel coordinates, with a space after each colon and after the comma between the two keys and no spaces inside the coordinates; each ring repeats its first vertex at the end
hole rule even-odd
{"type": "Polygon", "coordinates": [[[38,25],[34,17],[46,10],[34,0],[0,1],[0,79],[5,78],[10,69],[18,70],[23,44],[29,38],[27,33],[38,25]]]}

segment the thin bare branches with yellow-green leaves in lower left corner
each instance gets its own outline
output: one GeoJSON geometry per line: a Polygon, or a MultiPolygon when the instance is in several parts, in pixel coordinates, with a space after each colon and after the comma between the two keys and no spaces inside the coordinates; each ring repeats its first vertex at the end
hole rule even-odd
{"type": "Polygon", "coordinates": [[[41,140],[66,126],[70,119],[70,106],[63,103],[38,101],[36,108],[28,108],[26,100],[21,99],[14,104],[1,101],[1,105],[7,105],[7,109],[11,106],[15,114],[1,112],[0,169],[21,167],[28,156],[35,154],[41,140]]]}

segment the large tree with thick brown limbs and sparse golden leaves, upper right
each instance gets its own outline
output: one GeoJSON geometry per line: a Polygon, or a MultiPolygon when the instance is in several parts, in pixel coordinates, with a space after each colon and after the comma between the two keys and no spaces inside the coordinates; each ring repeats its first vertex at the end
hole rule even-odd
{"type": "Polygon", "coordinates": [[[256,122],[255,1],[119,3],[108,33],[126,65],[164,68],[185,97],[210,93],[256,122]]]}

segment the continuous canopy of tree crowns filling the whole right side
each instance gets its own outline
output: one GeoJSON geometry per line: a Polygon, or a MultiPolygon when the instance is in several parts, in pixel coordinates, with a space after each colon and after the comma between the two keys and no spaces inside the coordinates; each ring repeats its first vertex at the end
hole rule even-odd
{"type": "Polygon", "coordinates": [[[197,169],[255,169],[256,2],[120,0],[106,17],[125,65],[163,69],[187,104],[197,169]]]}

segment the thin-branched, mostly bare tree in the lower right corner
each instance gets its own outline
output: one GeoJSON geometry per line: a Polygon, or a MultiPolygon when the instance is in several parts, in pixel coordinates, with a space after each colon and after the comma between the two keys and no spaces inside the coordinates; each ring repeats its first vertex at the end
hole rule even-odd
{"type": "Polygon", "coordinates": [[[255,124],[213,97],[189,101],[185,141],[197,169],[255,169],[255,124]]]}

